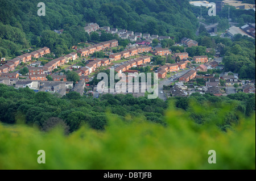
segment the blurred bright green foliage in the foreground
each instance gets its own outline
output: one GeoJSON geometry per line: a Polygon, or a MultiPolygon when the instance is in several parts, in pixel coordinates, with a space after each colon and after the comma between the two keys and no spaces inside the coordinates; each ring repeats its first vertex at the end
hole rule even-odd
{"type": "Polygon", "coordinates": [[[215,124],[226,111],[199,125],[171,104],[166,127],[108,113],[105,131],[84,124],[69,136],[0,124],[0,169],[255,169],[255,114],[222,132],[215,124]],[[37,162],[38,150],[46,164],[37,162]],[[216,164],[208,163],[209,150],[216,164]]]}

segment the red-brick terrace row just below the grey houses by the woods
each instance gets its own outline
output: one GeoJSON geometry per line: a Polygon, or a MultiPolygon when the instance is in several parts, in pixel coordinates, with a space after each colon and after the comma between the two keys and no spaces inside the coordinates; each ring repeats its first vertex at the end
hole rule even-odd
{"type": "Polygon", "coordinates": [[[102,43],[95,44],[91,47],[80,49],[77,51],[77,53],[80,53],[82,57],[86,57],[86,56],[89,56],[89,54],[93,54],[94,52],[98,52],[101,50],[105,50],[106,48],[112,48],[117,46],[118,46],[117,40],[110,40],[110,41],[105,41],[102,43]]]}

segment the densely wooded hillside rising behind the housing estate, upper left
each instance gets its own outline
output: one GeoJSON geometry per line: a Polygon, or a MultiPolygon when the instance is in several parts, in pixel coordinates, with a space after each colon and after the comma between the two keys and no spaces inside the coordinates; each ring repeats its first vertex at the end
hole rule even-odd
{"type": "MultiPolygon", "coordinates": [[[[101,27],[125,28],[178,39],[192,37],[197,27],[197,19],[188,1],[47,0],[44,3],[46,16],[38,16],[38,1],[0,0],[0,26],[5,26],[5,31],[0,31],[0,47],[6,49],[7,54],[18,55],[21,48],[38,44],[38,36],[44,30],[82,30],[90,22],[101,27]],[[12,32],[19,33],[22,39],[17,41],[12,32]],[[14,48],[9,51],[11,47],[14,48]]],[[[77,35],[70,32],[66,32],[69,35],[64,39],[76,38],[77,35]]],[[[3,49],[0,52],[6,54],[3,49]]]]}

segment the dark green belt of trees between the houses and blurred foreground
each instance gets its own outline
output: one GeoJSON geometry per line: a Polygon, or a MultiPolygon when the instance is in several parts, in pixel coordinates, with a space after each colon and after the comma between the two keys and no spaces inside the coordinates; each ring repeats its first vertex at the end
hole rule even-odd
{"type": "Polygon", "coordinates": [[[107,113],[113,113],[123,121],[141,117],[166,126],[165,113],[170,103],[176,110],[184,110],[197,124],[207,124],[213,117],[218,117],[221,121],[216,125],[223,131],[239,123],[241,117],[255,112],[254,94],[238,93],[219,98],[196,93],[188,98],[170,98],[164,102],[161,99],[134,98],[131,94],[106,94],[93,99],[70,92],[59,98],[48,92],[35,93],[28,87],[14,89],[0,85],[0,120],[35,125],[42,131],[56,124],[68,128],[67,133],[76,131],[82,124],[103,130],[108,125],[107,113]]]}

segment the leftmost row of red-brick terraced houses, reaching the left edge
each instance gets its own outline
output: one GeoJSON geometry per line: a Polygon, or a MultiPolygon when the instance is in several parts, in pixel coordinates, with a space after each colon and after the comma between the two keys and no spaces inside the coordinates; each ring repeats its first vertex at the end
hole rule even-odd
{"type": "Polygon", "coordinates": [[[32,58],[39,58],[44,56],[45,54],[50,53],[50,50],[48,47],[41,48],[39,50],[36,50],[31,53],[22,54],[13,60],[7,61],[7,63],[0,67],[0,74],[1,73],[7,73],[9,71],[13,71],[16,66],[18,66],[21,62],[28,62],[32,60],[32,58]]]}

